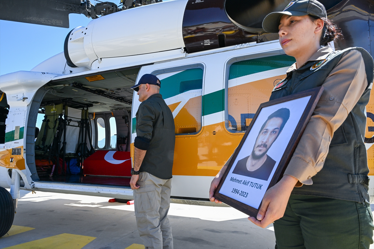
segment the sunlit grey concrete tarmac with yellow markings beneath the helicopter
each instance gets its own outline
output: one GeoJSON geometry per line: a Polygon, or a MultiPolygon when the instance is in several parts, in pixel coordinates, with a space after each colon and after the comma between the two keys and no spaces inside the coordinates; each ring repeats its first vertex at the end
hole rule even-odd
{"type": "MultiPolygon", "coordinates": [[[[144,248],[134,205],[109,199],[21,190],[13,227],[0,248],[144,248]]],[[[263,229],[247,217],[229,207],[172,203],[174,248],[274,248],[272,225],[263,229]]]]}

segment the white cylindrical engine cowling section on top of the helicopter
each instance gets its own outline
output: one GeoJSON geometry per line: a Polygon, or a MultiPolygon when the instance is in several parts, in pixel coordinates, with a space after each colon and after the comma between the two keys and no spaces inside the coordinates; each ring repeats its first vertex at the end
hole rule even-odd
{"type": "Polygon", "coordinates": [[[64,54],[71,67],[97,59],[161,52],[184,47],[183,12],[188,0],[123,10],[92,20],[69,32],[64,54]]]}

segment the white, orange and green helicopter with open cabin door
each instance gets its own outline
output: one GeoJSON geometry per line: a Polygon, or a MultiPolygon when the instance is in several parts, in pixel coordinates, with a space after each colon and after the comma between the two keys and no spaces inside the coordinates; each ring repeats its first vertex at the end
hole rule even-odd
{"type": "MultiPolygon", "coordinates": [[[[0,1],[1,11],[7,3],[8,10],[16,9],[14,2],[19,1],[0,1]]],[[[209,202],[212,178],[232,155],[258,106],[269,100],[295,62],[283,52],[278,34],[261,27],[268,13],[282,11],[289,1],[141,0],[121,1],[121,8],[109,2],[94,6],[88,0],[43,2],[58,9],[60,19],[46,11],[27,22],[55,19],[59,21],[47,25],[65,27],[69,13],[92,21],[66,32],[64,52],[30,71],[0,76],[0,212],[5,217],[0,237],[12,225],[20,189],[132,199],[129,180],[140,102],[130,87],[144,74],[160,79],[160,93],[174,117],[171,202],[223,205],[209,202]],[[158,22],[116,25],[138,16],[158,22]]],[[[373,56],[374,1],[321,3],[344,34],[330,46],[364,47],[373,56]]],[[[25,21],[15,12],[8,16],[25,21]]],[[[365,145],[371,179],[373,127],[370,102],[365,145]]],[[[373,203],[373,180],[370,184],[373,203]]]]}

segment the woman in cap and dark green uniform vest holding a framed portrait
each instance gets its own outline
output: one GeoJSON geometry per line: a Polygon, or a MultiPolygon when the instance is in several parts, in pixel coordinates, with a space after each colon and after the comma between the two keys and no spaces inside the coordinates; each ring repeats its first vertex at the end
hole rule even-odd
{"type": "MultiPolygon", "coordinates": [[[[340,34],[316,0],[291,1],[267,15],[263,28],[278,33],[286,55],[296,59],[270,100],[321,85],[324,92],[283,177],[248,219],[263,228],[274,222],[278,249],[369,248],[374,226],[364,135],[373,58],[362,48],[328,46],[340,34]]],[[[219,202],[213,193],[227,165],[212,181],[211,201],[219,202]]]]}

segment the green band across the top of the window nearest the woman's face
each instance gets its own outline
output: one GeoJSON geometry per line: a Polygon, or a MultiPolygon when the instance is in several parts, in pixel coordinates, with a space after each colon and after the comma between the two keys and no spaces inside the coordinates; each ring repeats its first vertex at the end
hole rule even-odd
{"type": "Polygon", "coordinates": [[[258,72],[289,67],[293,63],[295,63],[295,58],[288,55],[238,61],[230,66],[229,80],[258,72]]]}

